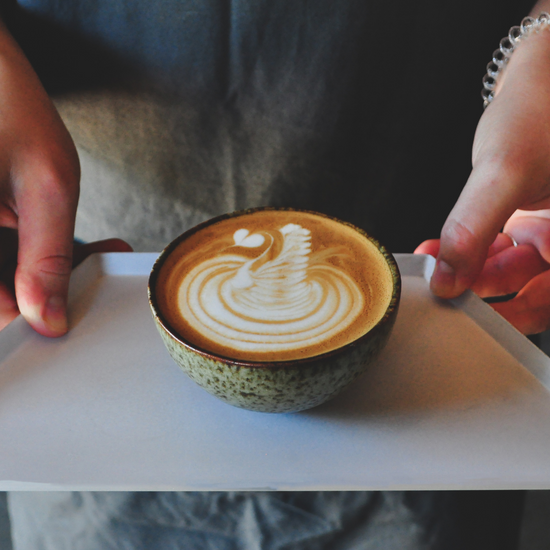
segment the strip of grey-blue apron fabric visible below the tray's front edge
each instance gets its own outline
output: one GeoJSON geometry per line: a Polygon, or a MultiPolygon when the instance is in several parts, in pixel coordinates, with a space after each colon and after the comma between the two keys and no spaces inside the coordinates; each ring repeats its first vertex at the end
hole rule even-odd
{"type": "Polygon", "coordinates": [[[521,491],[9,494],[14,550],[513,550],[521,491]]]}

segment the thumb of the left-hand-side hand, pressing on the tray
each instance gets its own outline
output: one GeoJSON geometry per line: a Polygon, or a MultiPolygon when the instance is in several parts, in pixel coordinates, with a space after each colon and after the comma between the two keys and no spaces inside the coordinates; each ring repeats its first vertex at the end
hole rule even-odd
{"type": "MultiPolygon", "coordinates": [[[[78,193],[65,174],[26,170],[19,214],[17,303],[29,324],[44,336],[67,332],[67,292],[72,267],[78,193]],[[28,182],[32,182],[29,185],[28,182]]],[[[23,187],[23,186],[21,186],[23,187]]]]}

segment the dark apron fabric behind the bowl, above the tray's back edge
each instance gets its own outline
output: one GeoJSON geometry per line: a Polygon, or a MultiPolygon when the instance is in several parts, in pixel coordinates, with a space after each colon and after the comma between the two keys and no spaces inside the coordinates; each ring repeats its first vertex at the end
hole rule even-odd
{"type": "Polygon", "coordinates": [[[485,65],[529,9],[19,0],[11,19],[80,153],[82,240],[160,251],[207,218],[272,205],[412,252],[468,177],[485,65]]]}

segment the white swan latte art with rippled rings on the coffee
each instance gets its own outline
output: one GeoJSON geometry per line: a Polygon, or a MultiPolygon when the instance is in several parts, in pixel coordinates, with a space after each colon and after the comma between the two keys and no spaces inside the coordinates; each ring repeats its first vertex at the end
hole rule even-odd
{"type": "Polygon", "coordinates": [[[178,290],[183,318],[223,346],[272,353],[315,345],[346,330],[370,299],[370,289],[327,261],[338,251],[312,253],[310,231],[298,224],[238,229],[233,241],[195,265],[178,290]]]}

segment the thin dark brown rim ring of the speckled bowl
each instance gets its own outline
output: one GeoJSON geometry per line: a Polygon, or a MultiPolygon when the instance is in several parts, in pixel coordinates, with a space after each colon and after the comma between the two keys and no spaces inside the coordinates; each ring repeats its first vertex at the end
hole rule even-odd
{"type": "Polygon", "coordinates": [[[247,208],[244,210],[236,210],[234,212],[229,212],[226,214],[222,214],[220,216],[215,216],[213,218],[210,218],[208,220],[205,220],[204,222],[199,223],[198,225],[193,226],[192,228],[188,229],[187,231],[183,232],[181,235],[176,237],[173,241],[171,241],[159,254],[158,258],[156,259],[155,263],[153,264],[153,267],[151,269],[151,273],[149,275],[149,280],[147,284],[147,294],[148,294],[148,300],[149,300],[149,306],[153,312],[153,316],[155,317],[156,321],[161,325],[162,329],[176,342],[184,346],[185,348],[188,348],[189,350],[193,351],[194,353],[198,353],[199,355],[206,357],[207,359],[214,360],[217,362],[223,362],[226,365],[232,365],[236,367],[252,367],[252,368],[273,368],[273,367],[289,367],[289,366],[299,366],[299,365],[308,365],[311,363],[319,362],[324,359],[331,358],[336,355],[342,355],[345,354],[347,350],[353,349],[360,345],[364,340],[366,340],[368,337],[372,336],[373,332],[378,332],[383,329],[385,325],[388,323],[393,323],[395,319],[395,315],[397,314],[397,310],[399,308],[399,302],[401,298],[401,274],[399,272],[399,267],[397,266],[397,262],[393,255],[386,249],[384,245],[380,243],[377,239],[369,235],[365,230],[361,229],[360,227],[357,227],[356,225],[353,225],[350,222],[346,222],[344,220],[341,220],[339,218],[335,218],[333,216],[329,216],[328,214],[323,214],[321,212],[315,212],[313,210],[305,210],[301,208],[292,208],[292,207],[276,207],[276,206],[259,206],[256,208],[247,208]],[[283,361],[246,361],[243,359],[235,359],[232,357],[227,357],[221,354],[213,353],[211,351],[208,351],[206,349],[201,348],[200,346],[197,346],[196,344],[190,342],[189,340],[186,340],[183,338],[178,332],[170,325],[170,323],[167,321],[167,319],[164,317],[162,312],[160,311],[160,308],[157,305],[156,295],[155,295],[155,283],[157,281],[158,275],[160,273],[160,270],[165,262],[165,260],[168,258],[168,256],[171,254],[171,252],[185,239],[189,238],[191,235],[197,233],[201,229],[208,227],[210,225],[213,225],[215,223],[218,223],[220,221],[230,219],[233,217],[238,216],[245,216],[248,214],[253,214],[255,212],[261,212],[266,210],[276,210],[276,211],[287,211],[287,212],[300,212],[305,214],[312,214],[314,216],[320,216],[322,218],[326,218],[332,221],[335,221],[337,223],[346,225],[361,235],[363,235],[365,238],[367,238],[372,244],[376,246],[378,251],[384,256],[386,263],[390,269],[390,272],[392,274],[393,279],[393,290],[392,290],[392,296],[390,299],[390,303],[388,304],[388,307],[386,308],[386,311],[384,312],[384,315],[380,318],[380,320],[365,334],[357,338],[356,340],[353,340],[352,342],[349,342],[348,344],[345,344],[344,346],[341,346],[339,348],[336,348],[334,350],[330,350],[324,353],[320,353],[318,355],[312,355],[309,357],[303,357],[300,359],[287,359],[283,361]]]}

